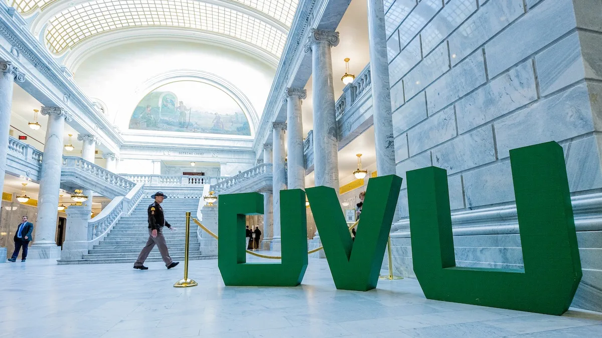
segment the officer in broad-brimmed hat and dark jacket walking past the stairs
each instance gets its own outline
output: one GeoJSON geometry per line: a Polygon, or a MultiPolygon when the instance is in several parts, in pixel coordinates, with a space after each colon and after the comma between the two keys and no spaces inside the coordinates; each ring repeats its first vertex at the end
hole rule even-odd
{"type": "Polygon", "coordinates": [[[161,207],[161,202],[165,198],[166,195],[161,191],[157,191],[156,194],[152,195],[151,198],[155,198],[155,201],[149,206],[148,209],[148,220],[149,220],[149,239],[146,241],[146,245],[140,251],[140,255],[138,259],[134,263],[134,269],[147,270],[148,268],[144,266],[144,260],[149,256],[155,244],[159,248],[159,252],[161,253],[161,258],[163,258],[163,262],[168,269],[173,268],[178,265],[179,262],[173,262],[172,257],[169,257],[169,251],[167,251],[167,243],[165,242],[165,237],[163,237],[163,227],[166,226],[169,230],[175,230],[172,226],[164,218],[163,208],[161,207]]]}

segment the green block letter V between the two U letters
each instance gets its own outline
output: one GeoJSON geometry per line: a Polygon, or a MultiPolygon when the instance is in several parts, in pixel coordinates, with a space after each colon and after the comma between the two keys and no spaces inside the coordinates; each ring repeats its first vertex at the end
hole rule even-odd
{"type": "Polygon", "coordinates": [[[368,181],[355,242],[335,190],[326,186],[306,189],[337,289],[367,291],[376,287],[401,185],[402,179],[395,175],[368,181]]]}

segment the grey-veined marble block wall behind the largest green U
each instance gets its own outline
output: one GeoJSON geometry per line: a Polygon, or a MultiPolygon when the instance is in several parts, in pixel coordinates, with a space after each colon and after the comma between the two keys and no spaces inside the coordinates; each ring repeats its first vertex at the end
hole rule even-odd
{"type": "MultiPolygon", "coordinates": [[[[406,171],[447,170],[452,212],[511,205],[509,150],[547,141],[565,151],[573,195],[600,192],[602,2],[386,0],[385,11],[404,179],[394,229],[408,230],[406,171]]],[[[601,311],[602,302],[578,301],[602,299],[596,217],[596,229],[579,233],[584,277],[573,305],[601,311]]],[[[455,237],[458,265],[522,266],[517,234],[463,235],[455,237]]],[[[412,276],[409,238],[393,237],[395,269],[412,276]]]]}

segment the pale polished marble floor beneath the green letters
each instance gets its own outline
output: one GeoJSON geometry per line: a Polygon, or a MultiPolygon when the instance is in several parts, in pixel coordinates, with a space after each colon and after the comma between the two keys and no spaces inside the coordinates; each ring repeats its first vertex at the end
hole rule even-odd
{"type": "Polygon", "coordinates": [[[602,313],[547,316],[424,298],[417,280],[335,289],[325,259],[299,287],[225,287],[217,260],[183,264],[0,264],[0,337],[601,337],[602,313]]]}

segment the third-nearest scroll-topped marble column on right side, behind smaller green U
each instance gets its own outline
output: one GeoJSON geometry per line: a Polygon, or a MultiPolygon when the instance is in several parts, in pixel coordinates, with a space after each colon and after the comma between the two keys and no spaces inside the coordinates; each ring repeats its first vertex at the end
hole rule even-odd
{"type": "Polygon", "coordinates": [[[280,191],[287,189],[287,172],[285,170],[284,153],[284,131],[287,130],[287,123],[272,123],[272,212],[274,219],[274,238],[270,250],[280,251],[280,191]]]}

